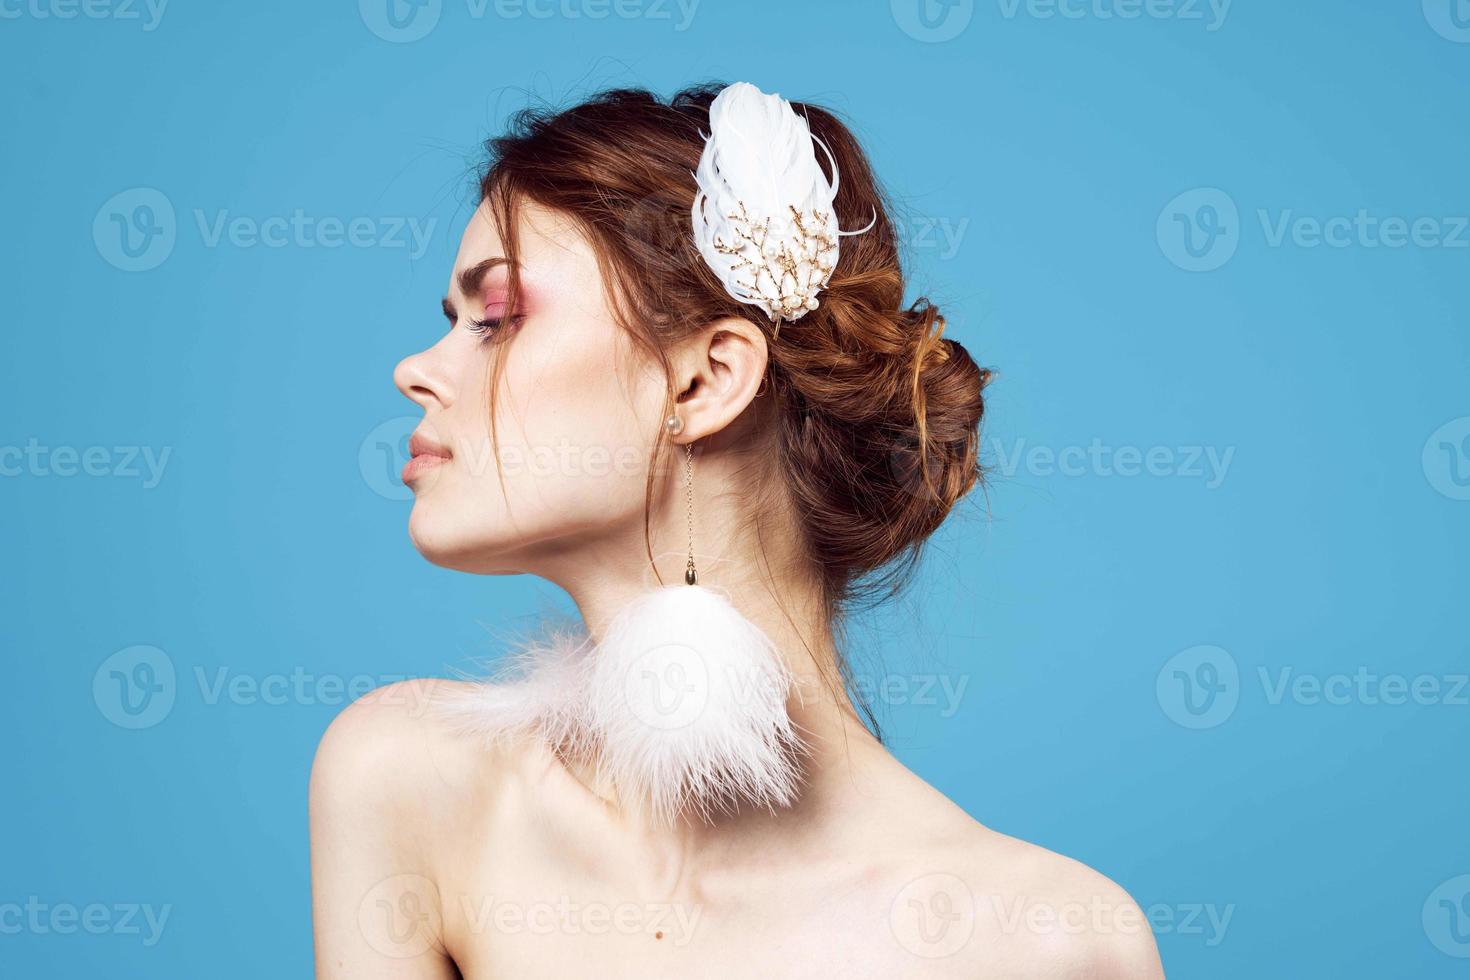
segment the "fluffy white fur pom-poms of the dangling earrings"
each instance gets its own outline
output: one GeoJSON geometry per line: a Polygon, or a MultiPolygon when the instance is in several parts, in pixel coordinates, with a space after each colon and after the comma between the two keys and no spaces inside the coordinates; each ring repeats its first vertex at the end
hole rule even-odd
{"type": "Polygon", "coordinates": [[[617,611],[603,639],[551,630],[509,671],[438,695],[463,732],[531,736],[588,764],[620,807],[659,824],[797,799],[797,685],[770,639],[719,592],[669,585],[617,611]]]}

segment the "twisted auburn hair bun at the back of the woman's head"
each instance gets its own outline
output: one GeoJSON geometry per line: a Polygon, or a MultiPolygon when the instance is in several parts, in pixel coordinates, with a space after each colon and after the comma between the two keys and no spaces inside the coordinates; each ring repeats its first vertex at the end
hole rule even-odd
{"type": "Polygon", "coordinates": [[[775,354],[800,406],[784,413],[782,435],[810,544],[844,592],[866,579],[889,594],[980,480],[991,373],[944,336],[932,303],[881,314],[864,285],[833,282],[775,354]]]}

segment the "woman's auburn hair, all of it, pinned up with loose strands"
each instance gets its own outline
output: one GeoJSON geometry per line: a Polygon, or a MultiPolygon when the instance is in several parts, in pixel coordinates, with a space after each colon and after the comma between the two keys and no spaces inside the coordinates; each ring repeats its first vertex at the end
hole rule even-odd
{"type": "MultiPolygon", "coordinates": [[[[725,291],[691,229],[692,172],[722,88],[704,84],[667,101],[617,88],[567,109],[523,109],[485,144],[479,194],[510,259],[510,309],[519,291],[516,207],[534,201],[587,235],[614,317],[666,370],[669,345],[704,325],[734,316],[763,326],[769,366],[760,401],[770,398],[763,406],[775,429],[770,455],[800,519],[828,621],[836,623],[854,599],[901,589],[925,539],[980,480],[982,392],[991,375],[942,336],[944,317],[928,300],[904,306],[886,197],[854,135],[820,106],[792,103],[836,162],[839,225],[873,226],[841,239],[820,306],[782,329],[725,291]]],[[[491,392],[500,363],[494,359],[491,392]]],[[[654,472],[667,448],[660,439],[648,475],[650,563],[654,472]]],[[[753,510],[759,522],[763,508],[753,510]]]]}

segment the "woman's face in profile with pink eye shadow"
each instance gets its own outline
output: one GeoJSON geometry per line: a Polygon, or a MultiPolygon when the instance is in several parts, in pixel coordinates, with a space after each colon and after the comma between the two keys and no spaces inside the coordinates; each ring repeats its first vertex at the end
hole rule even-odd
{"type": "Polygon", "coordinates": [[[557,212],[517,209],[519,309],[485,203],[450,275],[448,329],[394,370],[423,408],[404,482],[409,533],[435,564],[545,573],[556,555],[641,541],[667,382],[607,307],[592,245],[557,212]],[[509,332],[500,336],[500,332],[509,332]],[[501,357],[491,438],[490,383],[501,357]],[[497,451],[498,445],[498,451],[497,451]],[[501,491],[504,479],[504,492],[501,491]]]}

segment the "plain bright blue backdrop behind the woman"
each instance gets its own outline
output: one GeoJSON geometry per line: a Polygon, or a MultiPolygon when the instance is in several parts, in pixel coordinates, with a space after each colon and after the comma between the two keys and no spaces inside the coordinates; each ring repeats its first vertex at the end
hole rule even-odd
{"type": "Polygon", "coordinates": [[[1470,874],[1466,692],[1273,695],[1288,669],[1448,695],[1470,666],[1457,1],[983,0],[926,28],[913,0],[442,0],[407,41],[373,0],[173,0],[151,29],[4,0],[0,453],[47,454],[0,455],[0,905],[172,908],[151,946],[0,933],[0,974],[309,974],[307,771],[340,686],[467,667],[566,604],[428,566],[387,476],[416,416],[390,372],[442,329],[479,141],[528,100],[717,78],[854,120],[916,294],[1000,372],[988,494],[856,632],[858,670],[897,677],[900,758],[1120,882],[1170,976],[1464,976],[1430,899],[1470,874]],[[160,197],[172,225],[138,210],[160,197]],[[376,244],[207,235],[298,210],[376,244]],[[1360,210],[1458,247],[1272,237],[1360,210]],[[1047,463],[1094,442],[1154,472],[1047,463]],[[63,475],[66,447],[101,475],[63,475]],[[162,479],[116,447],[169,451],[162,479]],[[1223,479],[1197,451],[1232,454],[1223,479]],[[159,717],[112,686],[135,657],[175,671],[159,717]],[[212,695],[282,676],[307,683],[212,695]]]}

